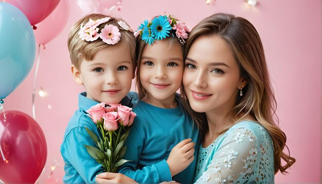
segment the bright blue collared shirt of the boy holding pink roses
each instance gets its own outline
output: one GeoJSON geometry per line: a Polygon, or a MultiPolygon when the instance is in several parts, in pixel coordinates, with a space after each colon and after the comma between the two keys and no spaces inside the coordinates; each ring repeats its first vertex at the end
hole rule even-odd
{"type": "MultiPolygon", "coordinates": [[[[137,102],[137,94],[130,92],[129,97],[132,103],[137,102]]],[[[130,106],[129,98],[124,98],[121,103],[130,106]]],[[[71,117],[66,127],[63,143],[60,146],[60,152],[65,162],[65,183],[94,183],[97,174],[104,171],[102,165],[98,163],[86,151],[84,145],[96,146],[91,137],[87,134],[85,127],[93,131],[97,136],[96,124],[87,116],[86,111],[99,102],[86,98],[86,93],[78,95],[79,109],[71,117]]]]}

